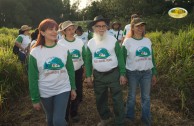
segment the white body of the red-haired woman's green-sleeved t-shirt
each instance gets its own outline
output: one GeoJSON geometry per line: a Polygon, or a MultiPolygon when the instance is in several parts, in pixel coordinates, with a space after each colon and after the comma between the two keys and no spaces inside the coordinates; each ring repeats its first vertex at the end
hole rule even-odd
{"type": "Polygon", "coordinates": [[[60,45],[52,48],[37,46],[30,52],[37,62],[40,96],[48,98],[71,90],[66,69],[68,49],[60,45]]]}

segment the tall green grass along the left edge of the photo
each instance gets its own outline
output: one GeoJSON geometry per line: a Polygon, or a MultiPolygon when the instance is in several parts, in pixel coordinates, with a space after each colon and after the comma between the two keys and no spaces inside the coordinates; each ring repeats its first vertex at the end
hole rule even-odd
{"type": "Polygon", "coordinates": [[[12,53],[17,35],[17,29],[0,29],[0,117],[28,91],[26,73],[18,57],[12,53]]]}

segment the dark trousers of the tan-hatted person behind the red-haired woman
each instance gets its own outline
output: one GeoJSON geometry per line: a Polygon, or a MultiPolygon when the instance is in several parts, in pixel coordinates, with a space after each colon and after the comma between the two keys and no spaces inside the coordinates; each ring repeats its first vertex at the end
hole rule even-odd
{"type": "Polygon", "coordinates": [[[66,120],[69,120],[69,115],[71,117],[75,117],[78,114],[79,103],[82,101],[82,98],[83,98],[82,75],[83,75],[83,68],[81,67],[79,70],[75,71],[75,85],[76,85],[77,97],[75,100],[71,100],[71,98],[69,98],[67,111],[66,111],[66,120]]]}

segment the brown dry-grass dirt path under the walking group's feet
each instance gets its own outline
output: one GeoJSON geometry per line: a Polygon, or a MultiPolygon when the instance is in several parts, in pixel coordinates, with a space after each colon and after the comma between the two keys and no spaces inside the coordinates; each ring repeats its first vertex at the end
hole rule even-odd
{"type": "MultiPolygon", "coordinates": [[[[124,99],[126,100],[127,88],[123,88],[124,99]]],[[[167,96],[166,88],[155,87],[152,90],[151,111],[153,118],[153,126],[194,126],[194,121],[183,117],[179,112],[176,94],[167,96]],[[168,97],[168,98],[167,98],[168,97]],[[169,99],[169,100],[168,100],[169,99]]],[[[110,100],[111,104],[111,100],[110,100]]],[[[140,126],[140,95],[137,95],[136,103],[136,126],[140,126]]],[[[96,111],[95,98],[93,89],[84,87],[84,99],[80,105],[79,114],[81,121],[73,123],[72,126],[96,126],[99,116],[96,111]]],[[[4,122],[0,122],[0,126],[46,126],[44,112],[35,111],[29,96],[20,99],[13,105],[12,111],[4,116],[4,122]],[[7,117],[6,117],[7,116],[7,117]]]]}

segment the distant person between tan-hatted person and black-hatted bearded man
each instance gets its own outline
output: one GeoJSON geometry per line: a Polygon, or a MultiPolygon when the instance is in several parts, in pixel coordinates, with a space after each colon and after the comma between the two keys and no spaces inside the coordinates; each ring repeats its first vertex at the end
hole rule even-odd
{"type": "Polygon", "coordinates": [[[81,26],[78,26],[77,29],[75,30],[75,37],[79,38],[83,41],[85,48],[87,47],[88,44],[88,35],[84,32],[81,26]]]}

